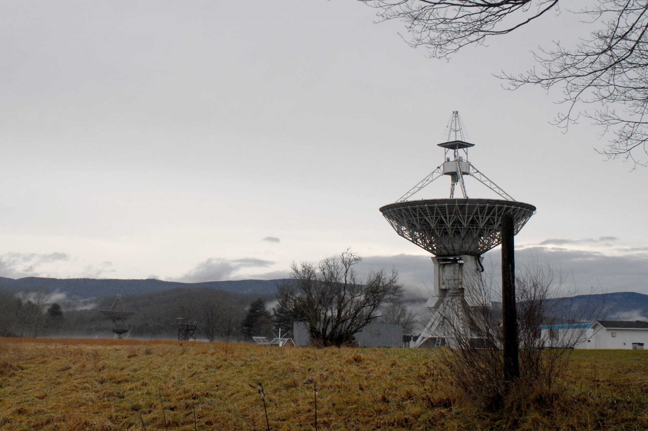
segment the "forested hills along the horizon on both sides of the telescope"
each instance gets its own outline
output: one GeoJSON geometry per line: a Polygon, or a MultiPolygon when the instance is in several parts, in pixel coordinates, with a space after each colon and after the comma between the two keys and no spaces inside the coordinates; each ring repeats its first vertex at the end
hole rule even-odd
{"type": "MultiPolygon", "coordinates": [[[[12,286],[9,290],[0,285],[0,336],[4,337],[113,337],[113,323],[100,310],[110,309],[121,294],[128,311],[137,312],[127,321],[133,328],[130,337],[176,338],[176,319],[185,318],[196,322],[198,338],[249,341],[242,336],[249,305],[261,298],[272,309],[277,283],[283,280],[195,284],[47,278],[0,281],[12,286]],[[213,285],[224,289],[214,289],[213,285]],[[38,288],[18,288],[26,286],[38,288]],[[85,299],[56,300],[69,298],[70,292],[74,298],[85,299]],[[91,292],[95,296],[90,296],[91,292]]],[[[648,320],[648,295],[629,292],[553,298],[548,300],[547,310],[552,316],[564,316],[566,321],[648,320]]]]}

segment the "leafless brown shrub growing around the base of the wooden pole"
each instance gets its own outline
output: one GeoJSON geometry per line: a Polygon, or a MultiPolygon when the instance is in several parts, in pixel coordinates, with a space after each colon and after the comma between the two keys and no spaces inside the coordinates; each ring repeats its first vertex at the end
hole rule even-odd
{"type": "MultiPolygon", "coordinates": [[[[595,313],[591,309],[579,313],[568,300],[553,298],[561,286],[548,266],[524,267],[516,276],[520,377],[515,381],[504,379],[499,307],[463,302],[461,319],[447,319],[455,323],[447,331],[453,342],[443,360],[471,401],[487,410],[518,414],[532,404],[551,404],[559,396],[570,353],[586,335],[587,325],[581,322],[591,322],[595,313]]],[[[492,284],[475,290],[480,303],[489,304],[492,284]]]]}

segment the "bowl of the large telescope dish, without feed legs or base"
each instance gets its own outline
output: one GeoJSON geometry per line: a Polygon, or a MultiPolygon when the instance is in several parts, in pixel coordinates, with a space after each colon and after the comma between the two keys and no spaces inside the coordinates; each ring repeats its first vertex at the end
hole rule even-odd
{"type": "Polygon", "coordinates": [[[435,256],[476,256],[502,242],[502,216],[513,216],[517,234],[535,206],[500,199],[421,199],[388,204],[380,212],[397,234],[435,256]]]}

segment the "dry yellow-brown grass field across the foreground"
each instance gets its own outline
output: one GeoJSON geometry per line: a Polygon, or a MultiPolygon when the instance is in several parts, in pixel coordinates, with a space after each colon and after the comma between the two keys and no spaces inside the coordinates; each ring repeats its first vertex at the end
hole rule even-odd
{"type": "Polygon", "coordinates": [[[575,351],[551,403],[485,412],[440,350],[0,338],[1,430],[645,430],[648,351],[575,351]]]}

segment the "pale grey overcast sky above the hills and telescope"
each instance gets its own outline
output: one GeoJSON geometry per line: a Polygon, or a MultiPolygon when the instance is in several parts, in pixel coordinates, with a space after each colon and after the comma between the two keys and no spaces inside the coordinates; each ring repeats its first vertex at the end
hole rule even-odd
{"type": "Polygon", "coordinates": [[[353,0],[0,3],[0,276],[276,278],[351,247],[424,289],[429,255],[378,208],[443,161],[458,110],[472,163],[538,208],[518,262],[648,294],[648,169],[605,161],[586,120],[551,126],[559,94],[492,76],[531,67],[549,21],[583,26],[446,62],[375,21],[353,0]]]}

